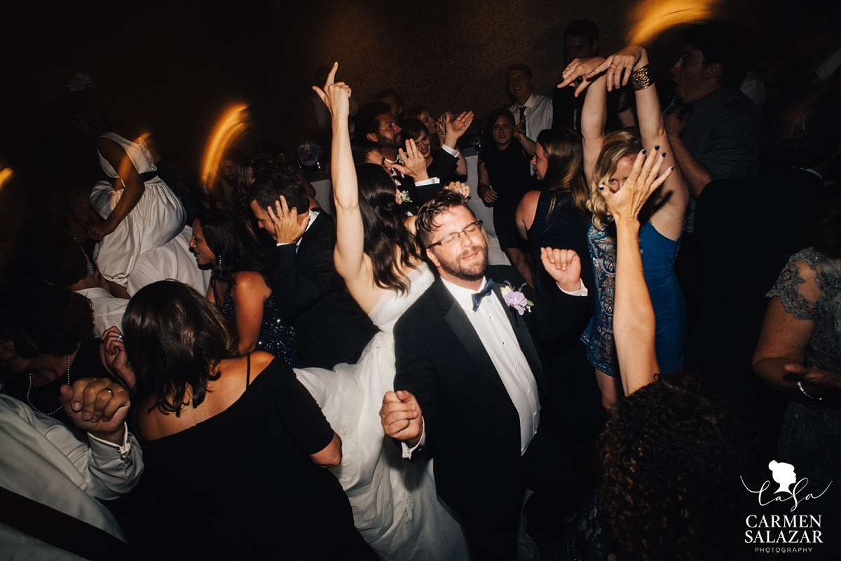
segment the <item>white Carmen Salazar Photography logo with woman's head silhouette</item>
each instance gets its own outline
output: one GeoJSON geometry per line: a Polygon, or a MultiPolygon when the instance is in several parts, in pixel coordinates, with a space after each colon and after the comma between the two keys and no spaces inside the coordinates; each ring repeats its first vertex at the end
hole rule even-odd
{"type": "MultiPolygon", "coordinates": [[[[776,462],[771,460],[768,464],[768,469],[771,470],[771,479],[779,485],[776,491],[771,492],[773,487],[770,480],[766,480],[759,490],[754,490],[748,487],[742,480],[744,488],[754,493],[759,501],[759,506],[768,506],[773,502],[787,502],[791,501],[790,512],[797,510],[802,502],[811,501],[812,499],[820,498],[827,492],[832,482],[829,482],[826,489],[822,490],[817,495],[807,493],[806,488],[809,485],[809,478],[804,477],[797,480],[794,466],[786,464],[785,462],[776,462]],[[793,485],[793,486],[792,486],[793,485]]],[[[787,515],[769,515],[769,514],[751,514],[745,520],[745,525],[748,529],[744,532],[744,543],[762,543],[762,544],[814,544],[823,543],[821,534],[821,517],[822,515],[809,514],[792,514],[787,515]]],[[[757,548],[757,551],[774,551],[775,553],[798,553],[811,552],[812,548],[757,548]]]]}

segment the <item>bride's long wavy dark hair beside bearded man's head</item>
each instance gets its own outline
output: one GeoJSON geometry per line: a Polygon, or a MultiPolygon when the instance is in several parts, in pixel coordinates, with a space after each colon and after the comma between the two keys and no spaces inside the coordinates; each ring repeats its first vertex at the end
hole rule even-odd
{"type": "Polygon", "coordinates": [[[420,259],[421,254],[405,227],[406,213],[395,199],[394,181],[379,165],[362,164],[357,165],[357,182],[364,251],[373,264],[373,280],[381,288],[403,293],[409,289],[409,281],[394,269],[411,268],[412,260],[420,259]]]}

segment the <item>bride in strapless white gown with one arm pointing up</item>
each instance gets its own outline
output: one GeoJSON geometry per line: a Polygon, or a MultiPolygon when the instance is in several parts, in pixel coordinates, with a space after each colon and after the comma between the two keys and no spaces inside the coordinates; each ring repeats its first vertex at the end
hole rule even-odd
{"type": "Polygon", "coordinates": [[[380,424],[382,397],[394,389],[394,323],[431,286],[433,275],[410,233],[414,223],[403,223],[388,173],[362,165],[357,184],[347,129],[351,88],[334,83],[337,68],[338,63],[324,90],[315,88],[333,119],[334,260],[348,291],[380,332],[355,365],[295,372],[341,436],[342,462],[331,470],[350,498],[359,532],[378,555],[468,559],[462,528],[436,494],[432,462],[405,462],[380,424]]]}

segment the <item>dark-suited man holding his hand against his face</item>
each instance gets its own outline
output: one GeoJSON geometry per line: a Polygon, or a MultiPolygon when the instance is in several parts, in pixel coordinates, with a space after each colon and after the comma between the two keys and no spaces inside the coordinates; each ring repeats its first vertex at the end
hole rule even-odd
{"type": "Polygon", "coordinates": [[[293,322],[299,367],[355,363],[377,328],[336,274],[333,218],[310,210],[304,184],[283,171],[254,181],[249,204],[276,242],[266,251],[272,295],[293,322]]]}

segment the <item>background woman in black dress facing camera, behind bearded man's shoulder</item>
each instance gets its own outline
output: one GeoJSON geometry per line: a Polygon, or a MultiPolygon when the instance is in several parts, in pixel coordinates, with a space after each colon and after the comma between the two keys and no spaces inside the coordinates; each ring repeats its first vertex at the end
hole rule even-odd
{"type": "MultiPolygon", "coordinates": [[[[526,146],[520,140],[528,142],[528,139],[515,128],[514,115],[508,109],[490,114],[486,137],[479,154],[477,191],[485,204],[494,207],[494,229],[500,248],[533,288],[531,249],[520,239],[515,222],[517,205],[534,188],[529,163],[532,155],[526,154],[526,146]]],[[[528,144],[528,148],[532,146],[528,144]]]]}

